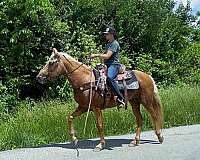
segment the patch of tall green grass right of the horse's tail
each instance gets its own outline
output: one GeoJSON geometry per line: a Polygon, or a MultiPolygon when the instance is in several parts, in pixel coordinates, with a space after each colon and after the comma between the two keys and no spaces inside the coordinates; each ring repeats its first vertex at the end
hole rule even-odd
{"type": "Polygon", "coordinates": [[[200,87],[160,90],[165,127],[200,123],[200,87]]]}

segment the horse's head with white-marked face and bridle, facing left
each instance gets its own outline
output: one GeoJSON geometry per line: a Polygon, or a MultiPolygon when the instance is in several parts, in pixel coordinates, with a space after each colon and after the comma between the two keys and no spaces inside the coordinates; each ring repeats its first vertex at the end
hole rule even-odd
{"type": "Polygon", "coordinates": [[[36,79],[39,83],[46,83],[47,80],[53,80],[59,75],[63,74],[63,63],[61,55],[54,48],[53,53],[44,67],[40,70],[36,79]]]}

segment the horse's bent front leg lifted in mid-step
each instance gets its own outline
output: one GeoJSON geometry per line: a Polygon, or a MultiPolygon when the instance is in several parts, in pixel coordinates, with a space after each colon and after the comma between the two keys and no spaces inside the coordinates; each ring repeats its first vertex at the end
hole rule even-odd
{"type": "Polygon", "coordinates": [[[74,120],[75,117],[80,116],[82,113],[84,113],[86,111],[87,111],[86,108],[78,106],[78,108],[67,118],[68,127],[69,127],[69,134],[71,135],[72,141],[74,142],[75,145],[77,144],[78,139],[76,138],[73,120],[74,120]]]}

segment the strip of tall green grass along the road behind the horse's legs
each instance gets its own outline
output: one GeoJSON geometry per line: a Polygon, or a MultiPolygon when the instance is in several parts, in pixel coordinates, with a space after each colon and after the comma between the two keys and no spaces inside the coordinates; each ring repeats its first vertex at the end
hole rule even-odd
{"type": "MultiPolygon", "coordinates": [[[[165,128],[200,123],[198,86],[160,89],[160,96],[164,106],[165,128]]],[[[0,150],[69,141],[66,116],[76,106],[75,102],[22,102],[15,114],[0,114],[0,150]]],[[[142,114],[143,130],[151,129],[149,115],[144,109],[142,114]]],[[[83,134],[85,116],[74,121],[78,138],[98,137],[92,113],[88,117],[86,134],[83,134]]],[[[105,110],[104,127],[106,135],[133,133],[136,123],[131,107],[127,111],[118,111],[116,108],[105,110]]]]}

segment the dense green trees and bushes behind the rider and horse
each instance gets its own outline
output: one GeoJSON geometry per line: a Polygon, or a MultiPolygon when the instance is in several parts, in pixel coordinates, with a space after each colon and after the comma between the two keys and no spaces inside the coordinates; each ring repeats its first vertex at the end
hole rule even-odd
{"type": "MultiPolygon", "coordinates": [[[[199,23],[193,23],[199,14],[192,16],[189,4],[174,6],[173,0],[3,0],[1,68],[7,80],[34,84],[33,76],[53,47],[87,63],[91,53],[103,52],[101,31],[109,25],[118,31],[121,62],[127,68],[143,70],[167,85],[187,80],[198,83],[199,71],[193,61],[187,68],[183,64],[192,54],[191,45],[200,39],[199,23]],[[185,75],[190,78],[182,78],[185,75]]],[[[48,93],[71,96],[71,91],[58,91],[63,85],[61,80],[51,83],[48,93]]]]}

